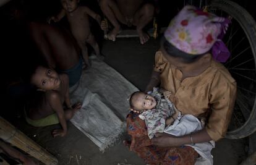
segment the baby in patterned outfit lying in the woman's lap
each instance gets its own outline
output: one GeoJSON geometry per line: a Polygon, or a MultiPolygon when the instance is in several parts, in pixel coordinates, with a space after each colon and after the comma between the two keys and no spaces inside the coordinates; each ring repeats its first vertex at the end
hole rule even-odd
{"type": "Polygon", "coordinates": [[[168,91],[162,92],[158,88],[154,88],[150,95],[136,91],[130,96],[130,110],[141,113],[139,117],[145,120],[150,139],[155,133],[164,132],[164,128],[173,124],[180,114],[168,97],[168,91]]]}

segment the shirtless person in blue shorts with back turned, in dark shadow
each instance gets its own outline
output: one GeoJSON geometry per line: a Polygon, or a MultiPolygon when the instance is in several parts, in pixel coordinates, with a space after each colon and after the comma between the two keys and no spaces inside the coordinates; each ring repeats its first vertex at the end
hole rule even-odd
{"type": "Polygon", "coordinates": [[[79,82],[82,57],[72,36],[47,23],[29,22],[30,36],[45,57],[48,66],[69,76],[69,87],[79,82]]]}

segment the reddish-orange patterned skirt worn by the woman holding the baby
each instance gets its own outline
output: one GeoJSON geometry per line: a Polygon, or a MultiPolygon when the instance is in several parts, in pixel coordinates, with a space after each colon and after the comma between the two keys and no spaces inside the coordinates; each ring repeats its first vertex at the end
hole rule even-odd
{"type": "Polygon", "coordinates": [[[160,148],[152,145],[147,135],[145,121],[140,119],[137,113],[130,112],[128,114],[127,131],[131,136],[130,150],[137,153],[147,164],[195,164],[198,154],[190,146],[160,148]]]}

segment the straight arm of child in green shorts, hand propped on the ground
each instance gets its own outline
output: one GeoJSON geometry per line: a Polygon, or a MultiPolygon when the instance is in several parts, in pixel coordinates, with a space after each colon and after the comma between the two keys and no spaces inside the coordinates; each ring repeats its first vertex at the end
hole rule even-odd
{"type": "Polygon", "coordinates": [[[56,112],[59,118],[59,123],[61,124],[61,127],[62,127],[62,129],[53,130],[53,137],[57,137],[57,136],[64,137],[64,135],[66,135],[67,133],[67,122],[65,118],[64,109],[61,103],[61,97],[59,96],[59,93],[55,91],[51,91],[46,96],[48,97],[51,108],[53,108],[53,111],[56,112]]]}

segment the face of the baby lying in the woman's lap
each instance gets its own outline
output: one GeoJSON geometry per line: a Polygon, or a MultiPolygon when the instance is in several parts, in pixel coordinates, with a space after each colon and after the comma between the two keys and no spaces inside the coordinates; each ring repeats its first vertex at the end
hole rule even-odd
{"type": "Polygon", "coordinates": [[[150,95],[145,93],[137,93],[134,96],[134,108],[139,111],[145,109],[153,109],[156,106],[156,100],[150,95]]]}

